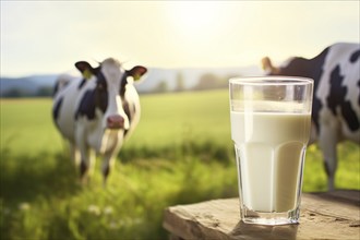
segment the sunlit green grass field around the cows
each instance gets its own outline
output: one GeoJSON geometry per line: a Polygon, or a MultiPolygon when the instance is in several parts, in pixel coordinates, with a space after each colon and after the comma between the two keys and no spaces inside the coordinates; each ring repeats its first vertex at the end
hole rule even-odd
{"type": "MultiPolygon", "coordinates": [[[[167,239],[165,207],[238,195],[227,91],[144,95],[141,104],[104,189],[99,163],[89,185],[79,184],[50,99],[1,99],[1,239],[167,239]]],[[[359,154],[339,145],[337,188],[360,189],[359,154]]],[[[326,190],[316,145],[303,190],[326,190]]]]}

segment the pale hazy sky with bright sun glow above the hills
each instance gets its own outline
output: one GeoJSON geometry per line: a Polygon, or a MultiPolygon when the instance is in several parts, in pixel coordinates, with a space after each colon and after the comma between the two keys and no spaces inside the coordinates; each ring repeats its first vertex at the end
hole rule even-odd
{"type": "Polygon", "coordinates": [[[1,76],[124,65],[223,68],[360,43],[360,1],[1,0],[1,76]]]}

